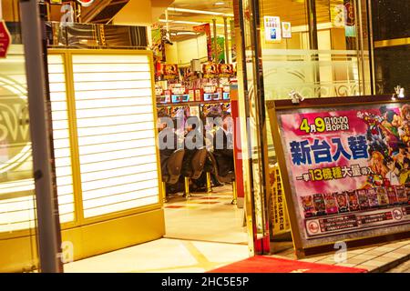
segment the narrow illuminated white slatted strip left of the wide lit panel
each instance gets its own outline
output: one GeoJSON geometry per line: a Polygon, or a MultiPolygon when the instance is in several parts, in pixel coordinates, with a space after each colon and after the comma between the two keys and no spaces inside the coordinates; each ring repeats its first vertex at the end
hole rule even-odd
{"type": "Polygon", "coordinates": [[[75,205],[63,55],[48,55],[48,79],[53,117],[53,137],[55,139],[58,211],[60,223],[67,223],[75,219],[75,205]]]}

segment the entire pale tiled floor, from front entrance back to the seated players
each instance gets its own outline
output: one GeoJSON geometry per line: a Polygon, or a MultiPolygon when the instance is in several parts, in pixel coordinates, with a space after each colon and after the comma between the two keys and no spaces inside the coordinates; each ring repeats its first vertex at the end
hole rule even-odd
{"type": "Polygon", "coordinates": [[[203,273],[249,257],[243,209],[231,204],[232,187],[210,194],[177,194],[164,205],[166,236],[68,263],[67,273],[203,273]]]}

